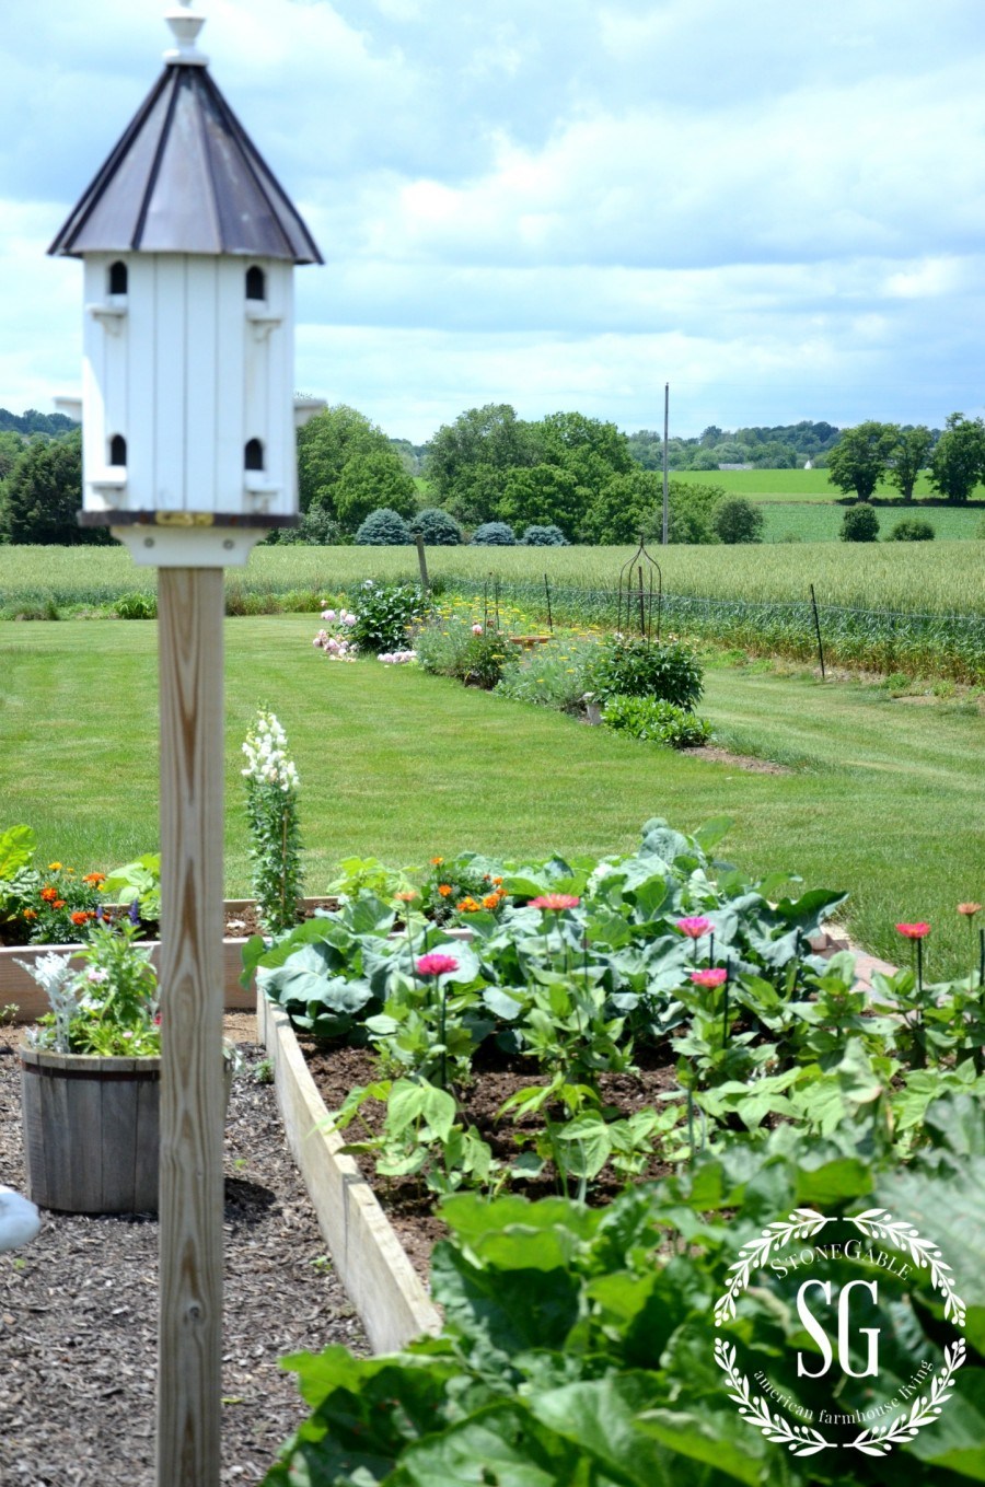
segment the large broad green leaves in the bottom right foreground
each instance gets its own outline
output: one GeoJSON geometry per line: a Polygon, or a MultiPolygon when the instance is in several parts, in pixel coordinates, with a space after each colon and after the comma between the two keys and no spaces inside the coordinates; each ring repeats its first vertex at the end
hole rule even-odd
{"type": "MultiPolygon", "coordinates": [[[[445,1199],[449,1239],[436,1245],[431,1261],[431,1292],[445,1317],[440,1337],[384,1358],[330,1347],[287,1359],[311,1416],[265,1487],[894,1487],[903,1480],[936,1487],[955,1453],[966,1475],[981,1481],[985,1474],[967,1445],[985,1438],[978,1346],[961,1368],[960,1408],[949,1404],[933,1429],[891,1453],[851,1456],[795,1453],[765,1439],[728,1398],[728,1378],[713,1364],[711,1319],[729,1267],[766,1215],[795,1209],[888,1209],[933,1233],[949,1257],[960,1257],[969,1335],[981,1338],[981,1109],[957,1127],[952,1120],[948,1129],[945,1117],[939,1133],[937,1167],[906,1175],[878,1161],[845,1161],[833,1144],[790,1151],[771,1138],[756,1166],[738,1148],[725,1149],[678,1178],[623,1193],[607,1209],[559,1197],[445,1199]]],[[[906,1316],[905,1356],[936,1370],[943,1361],[940,1307],[927,1271],[914,1280],[881,1268],[878,1277],[872,1326],[897,1337],[906,1316]]],[[[765,1271],[762,1288],[747,1292],[744,1319],[717,1329],[748,1374],[803,1347],[802,1279],[798,1268],[765,1271]]],[[[899,1362],[896,1373],[905,1359],[899,1362]]],[[[864,1408],[866,1380],[845,1383],[839,1407],[864,1408]]],[[[806,1420],[820,1420],[826,1387],[806,1371],[795,1375],[792,1368],[784,1377],[806,1420]]]]}

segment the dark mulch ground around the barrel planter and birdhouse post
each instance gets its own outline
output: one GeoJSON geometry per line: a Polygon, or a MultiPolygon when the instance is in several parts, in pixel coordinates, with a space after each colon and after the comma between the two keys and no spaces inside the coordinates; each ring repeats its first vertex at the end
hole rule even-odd
{"type": "MultiPolygon", "coordinates": [[[[284,1145],[256,1022],[226,1019],[246,1056],[226,1126],[225,1484],[256,1484],[304,1419],[284,1353],[368,1352],[284,1145]]],[[[19,1029],[0,1029],[0,1182],[24,1191],[19,1029]]],[[[0,1255],[0,1483],[150,1487],[158,1224],[43,1215],[0,1255]]]]}

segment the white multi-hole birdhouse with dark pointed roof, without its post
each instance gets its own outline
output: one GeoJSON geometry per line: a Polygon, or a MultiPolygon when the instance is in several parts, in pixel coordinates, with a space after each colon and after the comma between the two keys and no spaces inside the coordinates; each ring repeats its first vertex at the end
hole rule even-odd
{"type": "Polygon", "coordinates": [[[85,260],[83,510],[138,564],[231,567],[298,520],[293,268],[321,256],[177,46],[49,253],[85,260]]]}

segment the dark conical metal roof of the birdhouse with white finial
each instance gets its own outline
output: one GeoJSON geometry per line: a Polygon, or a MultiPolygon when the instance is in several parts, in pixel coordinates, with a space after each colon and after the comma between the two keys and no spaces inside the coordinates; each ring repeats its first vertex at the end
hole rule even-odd
{"type": "Polygon", "coordinates": [[[162,76],[48,251],[321,263],[296,207],[187,42],[201,18],[176,12],[168,22],[182,45],[165,54],[162,76]]]}

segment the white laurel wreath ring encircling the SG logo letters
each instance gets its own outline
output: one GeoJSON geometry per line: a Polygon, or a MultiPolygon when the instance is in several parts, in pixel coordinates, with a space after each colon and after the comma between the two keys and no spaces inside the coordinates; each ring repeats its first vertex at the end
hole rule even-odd
{"type": "MultiPolygon", "coordinates": [[[[829,1224],[854,1224],[866,1239],[881,1239],[896,1249],[906,1251],[915,1268],[928,1270],[930,1282],[943,1298],[943,1315],[955,1326],[964,1325],[967,1307],[954,1289],[954,1274],[933,1240],[923,1239],[912,1224],[897,1221],[885,1209],[866,1209],[864,1213],[847,1218],[832,1218],[814,1209],[795,1209],[786,1219],[768,1224],[759,1239],[750,1240],[738,1252],[738,1259],[729,1265],[728,1291],[714,1304],[714,1325],[734,1320],[738,1297],[745,1291],[750,1276],[763,1265],[774,1251],[793,1240],[814,1239],[829,1224]]],[[[714,1361],[728,1378],[729,1398],[738,1405],[739,1414],[754,1425],[768,1441],[786,1445],[793,1456],[815,1456],[827,1450],[860,1451],[863,1456],[885,1456],[894,1445],[912,1441],[925,1425],[933,1425],[943,1405],[952,1398],[954,1375],[967,1358],[967,1344],[958,1338],[943,1350],[943,1365],[925,1380],[925,1392],[905,1407],[896,1419],[885,1425],[866,1428],[854,1441],[832,1441],[821,1430],[808,1425],[793,1425],[780,1410],[771,1408],[768,1399],[757,1395],[750,1380],[737,1365],[735,1346],[723,1337],[716,1338],[714,1361]]]]}

